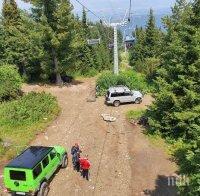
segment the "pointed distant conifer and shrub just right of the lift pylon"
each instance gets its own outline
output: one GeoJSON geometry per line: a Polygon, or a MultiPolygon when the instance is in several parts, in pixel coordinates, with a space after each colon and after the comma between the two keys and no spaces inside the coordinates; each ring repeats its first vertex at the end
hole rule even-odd
{"type": "Polygon", "coordinates": [[[145,29],[136,28],[136,44],[130,51],[130,65],[153,80],[160,65],[163,32],[156,27],[153,10],[150,10],[145,29]]]}

